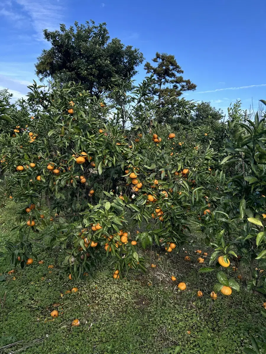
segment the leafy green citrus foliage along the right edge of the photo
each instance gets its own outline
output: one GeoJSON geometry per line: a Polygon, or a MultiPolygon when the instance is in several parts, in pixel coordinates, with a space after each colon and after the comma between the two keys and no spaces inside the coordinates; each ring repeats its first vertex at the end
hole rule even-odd
{"type": "Polygon", "coordinates": [[[266,294],[265,118],[256,114],[255,121],[244,120],[238,104],[231,112],[227,156],[221,161],[223,171],[214,177],[223,186],[212,197],[215,209],[204,227],[215,247],[212,261],[219,254],[231,255],[246,289],[266,294]]]}

